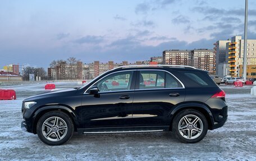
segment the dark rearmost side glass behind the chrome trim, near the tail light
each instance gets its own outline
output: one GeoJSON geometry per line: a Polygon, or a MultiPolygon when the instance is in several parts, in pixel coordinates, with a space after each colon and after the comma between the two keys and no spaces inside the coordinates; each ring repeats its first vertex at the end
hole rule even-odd
{"type": "Polygon", "coordinates": [[[188,81],[195,82],[200,86],[216,86],[207,72],[189,71],[184,72],[184,75],[189,78],[188,81]]]}

